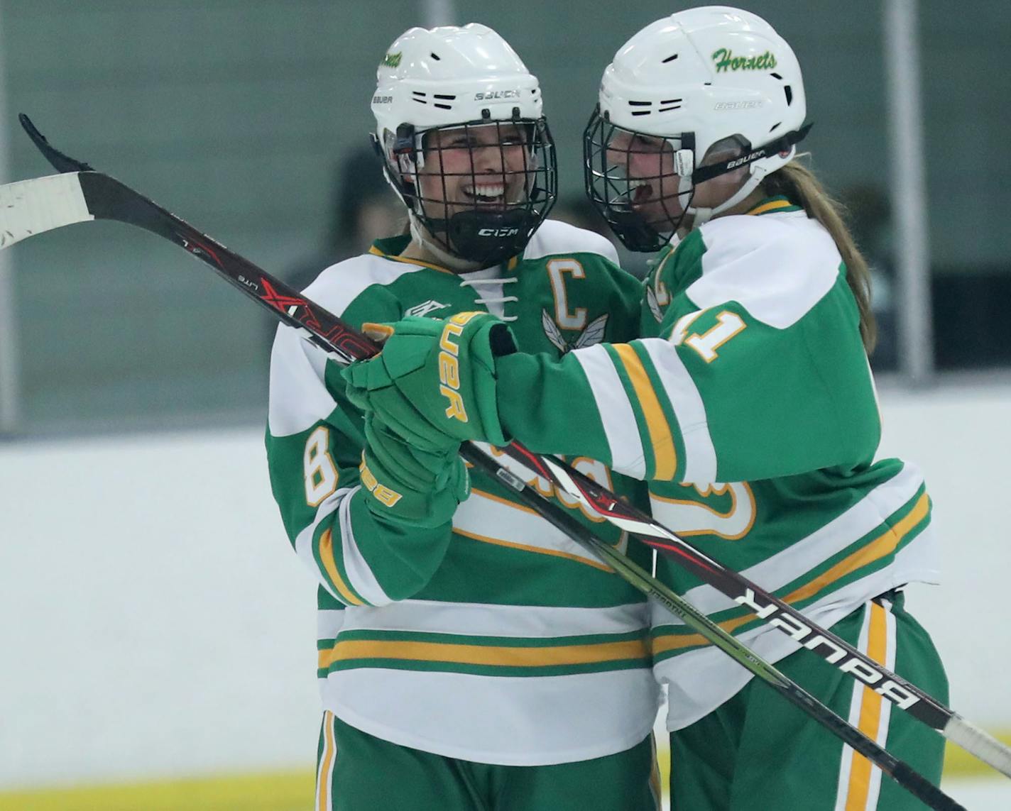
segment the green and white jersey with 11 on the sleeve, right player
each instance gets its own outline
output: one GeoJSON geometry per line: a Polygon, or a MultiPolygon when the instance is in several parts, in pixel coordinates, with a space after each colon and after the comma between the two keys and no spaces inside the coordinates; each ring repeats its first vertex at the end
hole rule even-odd
{"type": "MultiPolygon", "coordinates": [[[[507,428],[533,450],[649,480],[657,520],[823,626],[936,582],[922,476],[874,461],[881,422],[856,304],[820,223],[775,198],[693,230],[646,280],[641,335],[561,361],[501,359],[507,428]],[[578,434],[552,418],[562,403],[578,434]]],[[[797,649],[669,559],[658,576],[765,658],[797,649]]],[[[671,729],[750,678],[662,609],[653,653],[671,729]]]]}

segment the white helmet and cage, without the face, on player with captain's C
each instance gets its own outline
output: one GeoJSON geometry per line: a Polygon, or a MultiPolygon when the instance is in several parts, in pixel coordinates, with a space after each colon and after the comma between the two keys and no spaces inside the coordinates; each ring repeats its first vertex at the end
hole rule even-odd
{"type": "MultiPolygon", "coordinates": [[[[479,23],[410,28],[389,46],[376,79],[374,142],[412,220],[440,248],[464,260],[490,265],[519,254],[555,202],[557,163],[540,85],[516,52],[479,23]],[[427,133],[507,123],[524,133],[527,146],[518,170],[522,200],[497,207],[475,202],[449,215],[445,200],[421,194],[427,133]]],[[[507,174],[503,167],[503,185],[507,174]]]]}

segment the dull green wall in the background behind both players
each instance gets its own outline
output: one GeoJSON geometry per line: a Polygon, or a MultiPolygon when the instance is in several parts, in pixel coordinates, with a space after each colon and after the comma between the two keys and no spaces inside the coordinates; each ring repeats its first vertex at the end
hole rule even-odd
{"type": "MultiPolygon", "coordinates": [[[[456,2],[540,78],[564,196],[581,193],[579,138],[614,52],[687,4],[456,2]]],[[[880,2],[743,2],[794,45],[808,147],[835,192],[887,196],[880,2]]],[[[50,174],[28,112],[88,161],[284,277],[332,230],[335,172],[365,143],[375,66],[425,22],[405,0],[6,0],[0,132],[9,177],[50,174]]],[[[932,264],[1011,274],[1011,13],[1004,0],[921,3],[932,264]]],[[[858,212],[859,213],[859,212],[858,212]]],[[[879,237],[876,237],[876,239],[879,237]]],[[[887,228],[880,236],[888,244],[887,228]]],[[[124,225],[78,225],[10,251],[27,434],[262,420],[267,315],[177,248],[124,225]]],[[[321,270],[320,266],[320,270],[321,270]]]]}

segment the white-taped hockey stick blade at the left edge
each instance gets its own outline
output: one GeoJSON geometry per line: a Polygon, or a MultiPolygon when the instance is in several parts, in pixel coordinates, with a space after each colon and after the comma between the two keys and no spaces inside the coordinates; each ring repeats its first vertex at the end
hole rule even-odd
{"type": "Polygon", "coordinates": [[[0,186],[0,248],[36,233],[94,219],[77,172],[0,186]]]}

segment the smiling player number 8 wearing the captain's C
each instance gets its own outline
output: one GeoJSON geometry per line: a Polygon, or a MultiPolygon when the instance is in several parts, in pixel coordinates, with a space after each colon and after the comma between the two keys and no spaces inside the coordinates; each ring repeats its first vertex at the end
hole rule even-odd
{"type": "MultiPolygon", "coordinates": [[[[641,286],[611,243],[545,220],[553,144],[509,44],[483,25],[411,28],[377,77],[375,139],[409,234],[306,294],[354,325],[492,312],[555,359],[633,336],[641,286]]],[[[267,449],[319,582],[318,809],[658,807],[642,595],[492,478],[468,478],[458,439],[419,449],[363,419],[340,370],[287,326],[267,449]]],[[[634,496],[605,466],[574,464],[634,496]]]]}

